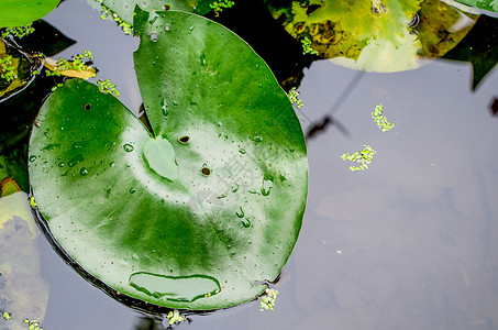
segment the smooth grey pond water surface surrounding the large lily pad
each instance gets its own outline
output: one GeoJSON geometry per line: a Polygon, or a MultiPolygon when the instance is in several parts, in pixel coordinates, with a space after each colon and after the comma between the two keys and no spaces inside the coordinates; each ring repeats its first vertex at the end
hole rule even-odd
{"type": "MultiPolygon", "coordinates": [[[[137,111],[132,52],[137,38],[66,0],[46,21],[89,50],[99,76],[137,111]]],[[[357,74],[328,61],[305,70],[305,131],[334,107],[332,124],[308,141],[310,190],[296,249],[276,285],[275,312],[254,301],[189,316],[178,329],[498,329],[498,97],[494,70],[472,91],[469,64],[357,74]],[[372,121],[376,105],[396,127],[372,121]],[[345,152],[369,144],[369,169],[351,173],[345,152]]],[[[42,240],[49,284],[45,330],[159,329],[82,279],[42,240]],[[140,326],[142,324],[142,326],[140,326]]]]}

